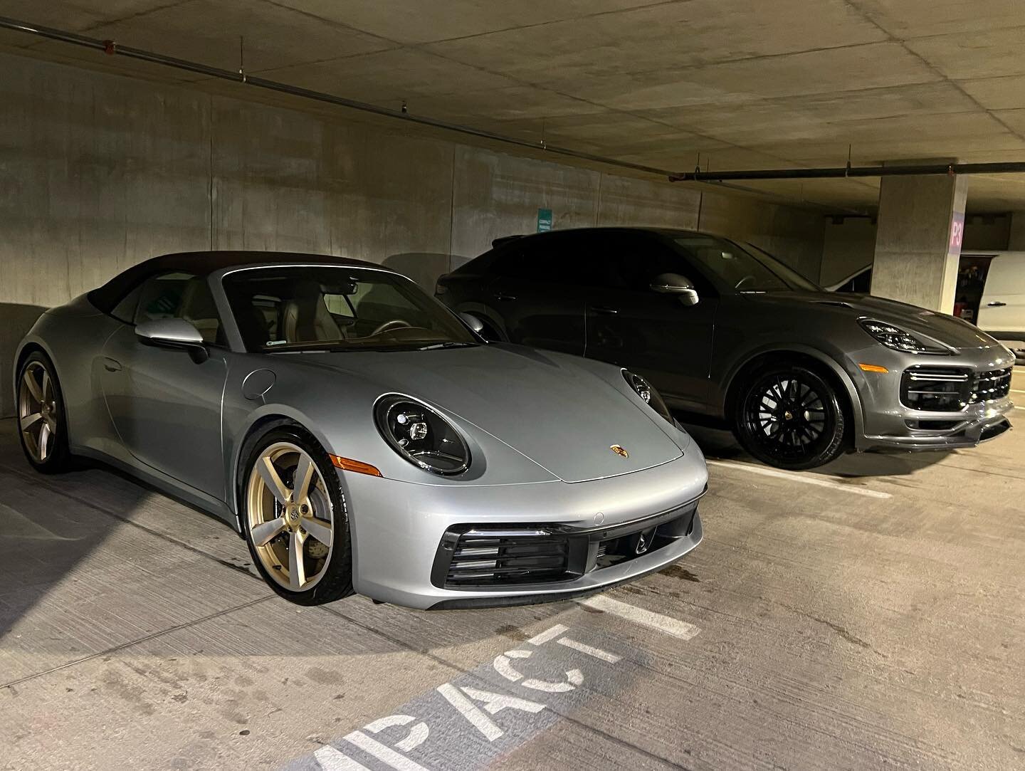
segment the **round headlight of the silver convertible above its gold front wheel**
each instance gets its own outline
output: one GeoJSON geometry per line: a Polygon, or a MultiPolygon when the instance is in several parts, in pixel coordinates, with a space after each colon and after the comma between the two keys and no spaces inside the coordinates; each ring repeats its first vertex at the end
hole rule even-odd
{"type": "Polygon", "coordinates": [[[430,407],[409,397],[386,396],[374,407],[377,430],[413,465],[451,476],[469,468],[469,448],[455,428],[430,407]]]}

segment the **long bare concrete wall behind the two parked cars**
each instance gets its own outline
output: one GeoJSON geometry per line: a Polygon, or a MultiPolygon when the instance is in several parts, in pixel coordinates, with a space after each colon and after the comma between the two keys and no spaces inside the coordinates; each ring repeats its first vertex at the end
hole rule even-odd
{"type": "Polygon", "coordinates": [[[155,254],[291,249],[383,262],[432,287],[497,236],[700,227],[806,275],[821,216],[753,198],[386,132],[198,90],[0,55],[0,414],[42,309],[155,254]]]}

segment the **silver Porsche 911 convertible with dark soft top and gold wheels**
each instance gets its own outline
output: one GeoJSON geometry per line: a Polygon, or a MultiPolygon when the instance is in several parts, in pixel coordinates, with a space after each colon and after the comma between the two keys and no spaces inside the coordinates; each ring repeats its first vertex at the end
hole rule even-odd
{"type": "Polygon", "coordinates": [[[704,457],[651,386],[478,323],[367,262],[156,257],[23,340],[22,444],[224,519],[304,605],[562,599],[697,545],[704,457]]]}

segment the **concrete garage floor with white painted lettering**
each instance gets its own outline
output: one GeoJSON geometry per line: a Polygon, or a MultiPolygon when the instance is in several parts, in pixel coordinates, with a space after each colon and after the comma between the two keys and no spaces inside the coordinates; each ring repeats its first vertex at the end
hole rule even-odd
{"type": "Polygon", "coordinates": [[[224,526],[35,475],[0,421],[0,765],[1025,766],[1025,433],[792,475],[695,434],[720,460],[679,565],[430,613],[289,605],[224,526]]]}

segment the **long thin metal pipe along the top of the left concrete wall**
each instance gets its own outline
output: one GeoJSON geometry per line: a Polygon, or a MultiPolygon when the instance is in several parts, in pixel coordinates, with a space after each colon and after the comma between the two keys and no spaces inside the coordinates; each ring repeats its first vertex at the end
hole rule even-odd
{"type": "Polygon", "coordinates": [[[373,113],[374,115],[380,115],[387,118],[396,118],[398,120],[407,121],[410,123],[417,123],[422,126],[430,126],[432,128],[442,129],[444,131],[454,131],[456,133],[466,134],[469,136],[476,136],[482,139],[490,139],[492,141],[502,143],[504,145],[515,145],[521,148],[528,148],[530,150],[542,151],[545,153],[551,153],[554,155],[566,156],[568,158],[576,158],[582,161],[590,161],[592,163],[601,163],[608,166],[616,166],[618,168],[630,169],[631,171],[642,171],[648,174],[656,174],[658,176],[670,176],[671,171],[667,169],[656,168],[654,166],[645,166],[640,163],[629,163],[628,161],[620,161],[615,158],[608,158],[606,156],[594,155],[592,153],[583,153],[578,150],[573,150],[572,148],[563,148],[557,145],[548,145],[543,139],[540,141],[532,141],[530,139],[522,139],[516,136],[509,136],[507,134],[500,134],[494,131],[486,131],[480,128],[474,128],[473,126],[464,126],[458,123],[449,123],[447,121],[437,120],[435,118],[428,118],[422,115],[415,115],[413,113],[405,112],[405,110],[391,110],[385,107],[378,107],[377,105],[370,105],[366,102],[357,102],[356,99],[348,99],[344,96],[336,96],[331,93],[324,93],[323,91],[314,91],[309,88],[300,88],[298,86],[289,85],[288,83],[281,83],[276,80],[268,80],[266,78],[259,78],[252,75],[247,75],[243,70],[232,71],[222,70],[217,67],[210,67],[208,65],[203,65],[198,62],[190,62],[188,59],[176,58],[174,56],[167,56],[163,53],[155,53],[154,51],[147,51],[141,48],[132,48],[130,46],[120,45],[113,40],[99,40],[98,38],[90,38],[85,35],[79,35],[74,32],[67,32],[65,30],[56,30],[51,27],[41,27],[39,25],[28,24],[27,22],[19,22],[15,18],[8,18],[6,16],[0,16],[0,28],[7,30],[14,30],[16,32],[25,32],[30,35],[36,35],[38,37],[47,38],[49,40],[59,40],[64,43],[72,43],[74,45],[81,45],[86,48],[93,48],[95,50],[104,51],[107,54],[127,56],[129,58],[137,58],[142,62],[151,62],[157,65],[163,65],[165,67],[172,67],[177,70],[184,70],[187,72],[197,73],[199,75],[206,75],[210,78],[219,78],[220,80],[230,80],[235,83],[240,83],[247,86],[255,86],[256,88],[262,88],[269,91],[277,91],[279,93],[285,93],[292,96],[300,96],[302,98],[314,99],[316,102],[325,102],[329,105],[336,105],[338,107],[348,108],[350,110],[359,110],[364,113],[373,113]]]}

